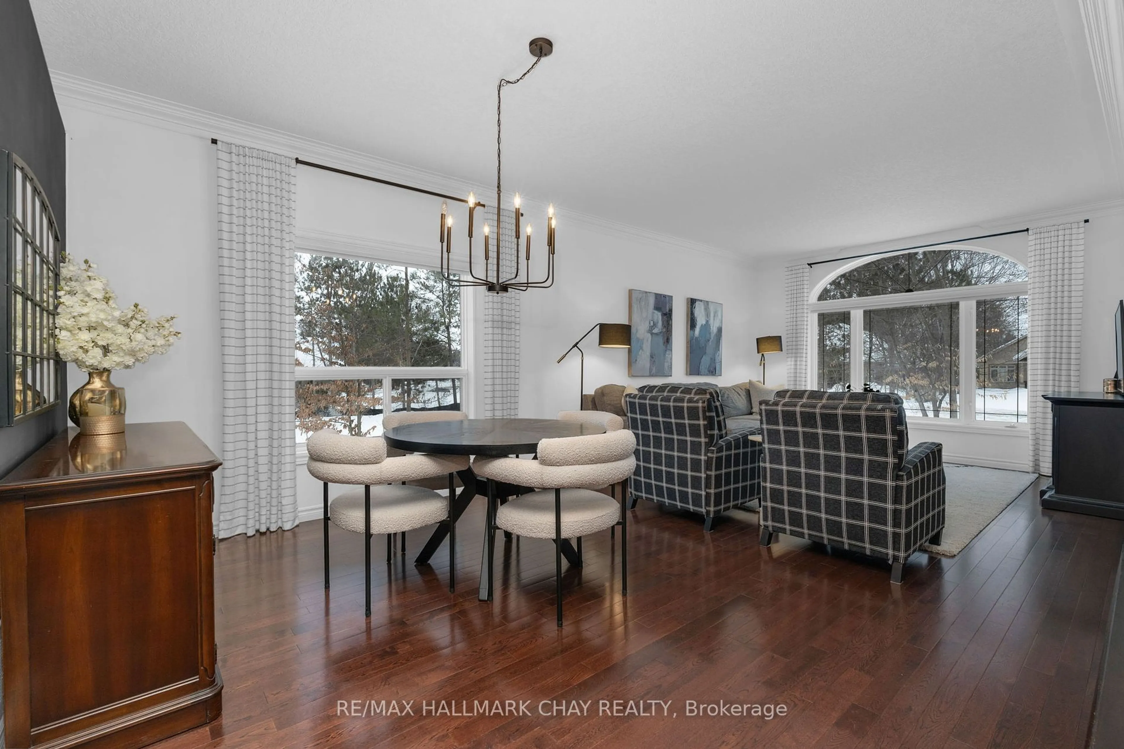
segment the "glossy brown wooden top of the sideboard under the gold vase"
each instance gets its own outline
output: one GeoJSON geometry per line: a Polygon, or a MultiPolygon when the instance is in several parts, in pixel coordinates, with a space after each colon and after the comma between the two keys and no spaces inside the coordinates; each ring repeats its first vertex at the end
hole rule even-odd
{"type": "Polygon", "coordinates": [[[183,422],[126,424],[121,434],[60,432],[0,479],[0,498],[33,487],[83,484],[110,475],[174,475],[221,466],[183,422]]]}

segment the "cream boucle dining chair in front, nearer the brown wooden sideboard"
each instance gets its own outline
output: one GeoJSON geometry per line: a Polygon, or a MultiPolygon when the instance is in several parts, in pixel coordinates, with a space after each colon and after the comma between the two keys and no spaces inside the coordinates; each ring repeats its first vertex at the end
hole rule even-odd
{"type": "Polygon", "coordinates": [[[433,489],[400,482],[447,475],[452,496],[453,473],[468,467],[469,459],[461,455],[388,458],[387,443],[381,436],[351,436],[320,430],[308,437],[308,472],[324,481],[324,587],[329,585],[329,518],[345,531],[365,536],[368,616],[371,615],[371,534],[400,533],[447,522],[448,589],[452,592],[455,586],[456,526],[448,514],[450,502],[433,489]],[[350,484],[363,489],[345,491],[329,503],[329,484],[350,484]]]}

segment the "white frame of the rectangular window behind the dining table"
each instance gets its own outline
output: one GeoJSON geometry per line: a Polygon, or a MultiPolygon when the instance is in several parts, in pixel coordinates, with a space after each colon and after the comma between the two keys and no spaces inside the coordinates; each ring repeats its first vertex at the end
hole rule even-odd
{"type": "MultiPolygon", "coordinates": [[[[395,265],[398,268],[414,268],[426,271],[439,271],[441,268],[433,263],[411,259],[416,254],[405,247],[381,247],[389,252],[372,253],[368,247],[355,243],[336,243],[324,246],[323,242],[317,242],[312,237],[297,236],[293,252],[303,254],[324,255],[328,258],[339,258],[343,260],[356,260],[369,263],[380,263],[383,265],[395,265]],[[305,241],[302,241],[302,238],[305,241]],[[405,250],[406,252],[401,252],[405,250]]],[[[456,269],[454,269],[455,271],[456,269]]],[[[296,282],[296,280],[294,280],[296,282]]],[[[324,380],[380,380],[384,397],[390,397],[391,380],[404,379],[459,379],[461,380],[461,409],[469,414],[471,418],[474,398],[472,383],[472,369],[469,362],[473,361],[475,346],[475,331],[472,321],[475,318],[477,295],[471,294],[471,289],[462,287],[461,292],[461,366],[460,367],[293,367],[296,381],[324,381],[324,380]]],[[[297,442],[297,462],[308,461],[307,442],[297,442]]]]}

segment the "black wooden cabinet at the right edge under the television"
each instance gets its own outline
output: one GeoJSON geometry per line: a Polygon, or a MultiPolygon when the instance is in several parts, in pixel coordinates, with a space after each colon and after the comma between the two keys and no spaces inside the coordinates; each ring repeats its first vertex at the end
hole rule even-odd
{"type": "Polygon", "coordinates": [[[1053,478],[1042,506],[1124,520],[1124,396],[1054,392],[1053,478]]]}

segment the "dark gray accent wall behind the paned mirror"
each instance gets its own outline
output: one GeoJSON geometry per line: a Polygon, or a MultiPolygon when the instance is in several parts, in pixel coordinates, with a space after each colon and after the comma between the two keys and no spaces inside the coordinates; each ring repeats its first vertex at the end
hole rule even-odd
{"type": "MultiPolygon", "coordinates": [[[[0,0],[0,150],[17,154],[35,172],[55,211],[65,249],[66,134],[28,0],[0,0]]],[[[16,426],[0,427],[0,476],[66,427],[69,392],[62,370],[62,405],[16,426]]]]}

